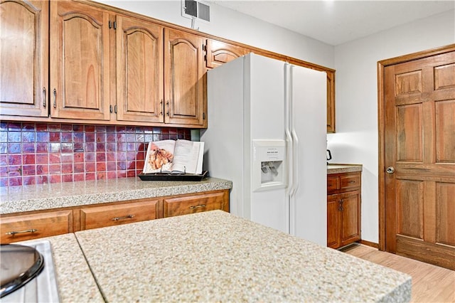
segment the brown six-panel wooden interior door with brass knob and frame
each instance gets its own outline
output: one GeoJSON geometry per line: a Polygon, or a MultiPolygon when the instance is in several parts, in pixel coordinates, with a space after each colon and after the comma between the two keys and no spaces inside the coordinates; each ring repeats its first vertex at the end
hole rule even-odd
{"type": "Polygon", "coordinates": [[[455,45],[381,64],[380,248],[455,270],[455,45]]]}

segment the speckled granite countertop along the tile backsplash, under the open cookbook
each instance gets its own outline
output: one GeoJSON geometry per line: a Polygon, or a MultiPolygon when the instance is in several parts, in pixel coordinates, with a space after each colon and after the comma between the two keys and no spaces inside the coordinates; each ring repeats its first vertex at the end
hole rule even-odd
{"type": "Polygon", "coordinates": [[[173,196],[232,188],[217,178],[203,181],[141,181],[139,178],[0,187],[0,214],[173,196]]]}

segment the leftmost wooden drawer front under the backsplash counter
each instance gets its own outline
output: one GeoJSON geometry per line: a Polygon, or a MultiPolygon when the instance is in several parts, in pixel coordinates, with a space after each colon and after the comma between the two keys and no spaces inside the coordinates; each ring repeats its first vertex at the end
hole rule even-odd
{"type": "Polygon", "coordinates": [[[73,232],[73,211],[0,218],[1,244],[73,232]]]}

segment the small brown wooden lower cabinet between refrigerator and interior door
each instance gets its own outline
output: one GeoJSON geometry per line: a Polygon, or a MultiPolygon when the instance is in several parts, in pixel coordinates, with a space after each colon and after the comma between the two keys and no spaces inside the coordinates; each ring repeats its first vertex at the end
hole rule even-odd
{"type": "Polygon", "coordinates": [[[327,246],[341,248],[360,240],[361,173],[327,177],[327,246]]]}

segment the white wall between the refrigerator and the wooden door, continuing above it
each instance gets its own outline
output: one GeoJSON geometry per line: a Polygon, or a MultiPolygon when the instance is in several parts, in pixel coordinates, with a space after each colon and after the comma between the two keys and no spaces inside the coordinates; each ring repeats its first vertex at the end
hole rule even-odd
{"type": "Polygon", "coordinates": [[[332,163],[363,164],[362,239],[378,243],[377,62],[455,43],[455,11],[335,47],[336,134],[332,163]]]}

